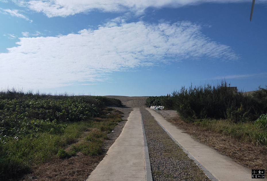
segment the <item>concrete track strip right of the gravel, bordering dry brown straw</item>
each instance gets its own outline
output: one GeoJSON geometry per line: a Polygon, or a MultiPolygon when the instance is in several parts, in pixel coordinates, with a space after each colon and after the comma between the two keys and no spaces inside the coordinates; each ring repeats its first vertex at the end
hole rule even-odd
{"type": "MultiPolygon", "coordinates": [[[[251,178],[251,169],[236,163],[230,157],[194,140],[190,135],[183,133],[156,111],[146,108],[152,116],[171,134],[171,136],[191,154],[217,180],[246,181],[251,178]]],[[[216,180],[215,179],[215,180],[216,180]]],[[[261,179],[266,180],[266,179],[261,179]]]]}

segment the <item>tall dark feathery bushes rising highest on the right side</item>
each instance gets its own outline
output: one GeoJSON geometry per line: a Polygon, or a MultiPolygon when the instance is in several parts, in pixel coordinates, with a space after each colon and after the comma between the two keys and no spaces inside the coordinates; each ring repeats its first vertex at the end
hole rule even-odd
{"type": "Polygon", "coordinates": [[[181,117],[191,121],[196,118],[230,118],[233,122],[245,122],[255,120],[267,111],[267,107],[252,96],[233,93],[230,84],[227,86],[225,81],[217,86],[182,87],[179,92],[173,93],[172,100],[181,117]]]}

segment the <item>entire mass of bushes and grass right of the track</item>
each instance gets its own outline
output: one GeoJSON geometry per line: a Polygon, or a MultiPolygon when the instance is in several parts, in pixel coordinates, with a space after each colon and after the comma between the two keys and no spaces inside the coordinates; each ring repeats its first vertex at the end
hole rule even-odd
{"type": "Polygon", "coordinates": [[[255,93],[246,95],[242,91],[233,91],[225,81],[215,86],[191,85],[174,91],[171,97],[149,97],[146,105],[153,104],[177,110],[185,122],[256,145],[267,145],[265,88],[259,87],[255,93]]]}

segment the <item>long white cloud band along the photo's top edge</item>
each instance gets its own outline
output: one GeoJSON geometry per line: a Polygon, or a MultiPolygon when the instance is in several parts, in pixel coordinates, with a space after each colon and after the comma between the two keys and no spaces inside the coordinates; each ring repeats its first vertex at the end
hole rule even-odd
{"type": "MultiPolygon", "coordinates": [[[[13,0],[14,1],[14,0],[13,0]]],[[[81,12],[100,10],[104,12],[126,12],[143,14],[148,7],[181,7],[185,5],[198,5],[201,3],[241,3],[251,0],[16,0],[18,5],[43,12],[48,17],[69,16],[81,12]]],[[[267,0],[258,0],[257,3],[267,3],[267,0]]]]}

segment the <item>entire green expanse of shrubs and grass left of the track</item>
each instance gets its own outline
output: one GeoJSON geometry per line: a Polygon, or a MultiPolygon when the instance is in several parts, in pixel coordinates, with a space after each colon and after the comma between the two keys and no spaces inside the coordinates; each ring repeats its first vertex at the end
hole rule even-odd
{"type": "Polygon", "coordinates": [[[0,180],[16,179],[56,157],[102,154],[103,140],[121,120],[121,114],[108,105],[121,106],[121,101],[2,91],[0,180]]]}

